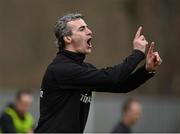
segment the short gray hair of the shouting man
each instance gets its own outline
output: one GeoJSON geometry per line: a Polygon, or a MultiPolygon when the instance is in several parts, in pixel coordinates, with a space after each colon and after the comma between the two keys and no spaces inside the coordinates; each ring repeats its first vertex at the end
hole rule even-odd
{"type": "Polygon", "coordinates": [[[77,19],[83,19],[82,14],[70,13],[57,20],[54,26],[54,34],[57,39],[57,46],[59,50],[63,50],[65,48],[63,37],[72,35],[71,29],[67,26],[67,23],[77,19]]]}

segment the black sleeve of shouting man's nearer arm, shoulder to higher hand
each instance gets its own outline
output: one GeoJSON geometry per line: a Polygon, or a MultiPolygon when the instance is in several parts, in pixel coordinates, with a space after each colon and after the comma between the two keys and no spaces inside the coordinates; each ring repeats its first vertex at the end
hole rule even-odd
{"type": "Polygon", "coordinates": [[[144,53],[134,50],[121,64],[97,69],[66,63],[53,67],[53,74],[61,89],[102,89],[112,88],[128,78],[136,66],[145,58],[144,53]]]}

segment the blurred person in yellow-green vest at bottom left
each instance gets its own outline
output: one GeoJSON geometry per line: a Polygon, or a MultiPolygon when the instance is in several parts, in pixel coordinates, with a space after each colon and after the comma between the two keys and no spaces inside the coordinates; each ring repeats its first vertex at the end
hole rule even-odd
{"type": "Polygon", "coordinates": [[[28,112],[33,101],[29,90],[17,92],[15,102],[10,103],[0,116],[0,132],[32,133],[34,121],[28,112]]]}

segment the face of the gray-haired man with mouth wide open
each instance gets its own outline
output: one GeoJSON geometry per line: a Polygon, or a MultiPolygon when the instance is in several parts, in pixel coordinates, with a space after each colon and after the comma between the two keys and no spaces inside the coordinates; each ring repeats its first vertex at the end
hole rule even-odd
{"type": "Polygon", "coordinates": [[[68,44],[66,43],[66,48],[77,53],[91,53],[92,31],[88,28],[84,20],[77,19],[70,21],[67,23],[67,26],[71,29],[72,35],[69,36],[71,41],[68,44]]]}

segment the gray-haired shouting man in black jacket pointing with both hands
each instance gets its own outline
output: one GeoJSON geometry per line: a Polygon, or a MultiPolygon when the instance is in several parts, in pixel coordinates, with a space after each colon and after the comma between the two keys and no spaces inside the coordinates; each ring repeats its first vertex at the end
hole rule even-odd
{"type": "Polygon", "coordinates": [[[68,14],[55,25],[59,52],[48,66],[41,86],[40,119],[35,132],[83,132],[92,91],[129,92],[151,78],[161,59],[149,49],[145,66],[136,66],[145,58],[148,44],[139,28],[133,51],[121,64],[97,69],[84,63],[91,53],[92,31],[81,14],[68,14]]]}

